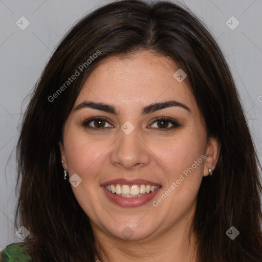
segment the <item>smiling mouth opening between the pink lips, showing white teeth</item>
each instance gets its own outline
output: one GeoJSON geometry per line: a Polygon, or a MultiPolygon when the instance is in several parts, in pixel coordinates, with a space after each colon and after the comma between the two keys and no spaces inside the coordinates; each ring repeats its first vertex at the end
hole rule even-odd
{"type": "Polygon", "coordinates": [[[105,189],[121,198],[140,198],[143,195],[150,194],[157,190],[160,185],[125,185],[125,184],[111,184],[105,185],[105,189]]]}

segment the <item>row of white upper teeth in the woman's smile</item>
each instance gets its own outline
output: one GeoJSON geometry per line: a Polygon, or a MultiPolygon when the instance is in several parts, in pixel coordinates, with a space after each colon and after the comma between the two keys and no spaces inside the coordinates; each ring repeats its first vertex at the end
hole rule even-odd
{"type": "Polygon", "coordinates": [[[123,195],[138,195],[138,194],[144,194],[154,192],[156,189],[158,189],[160,186],[151,186],[151,185],[106,185],[105,189],[117,194],[123,194],[123,195]]]}

